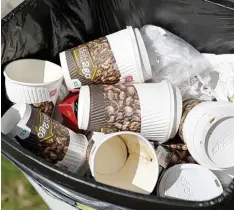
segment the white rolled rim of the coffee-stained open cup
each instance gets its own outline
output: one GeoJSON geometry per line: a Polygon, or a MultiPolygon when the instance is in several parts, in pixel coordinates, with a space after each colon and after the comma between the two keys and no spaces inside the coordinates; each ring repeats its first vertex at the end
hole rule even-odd
{"type": "MultiPolygon", "coordinates": [[[[149,146],[150,150],[154,154],[155,166],[157,166],[157,168],[155,168],[155,171],[156,171],[157,176],[159,176],[159,164],[158,164],[158,158],[157,158],[155,149],[152,146],[152,144],[145,137],[140,135],[139,133],[134,133],[134,132],[131,132],[131,131],[120,131],[120,132],[117,132],[117,133],[108,134],[103,140],[101,140],[101,143],[100,142],[98,143],[98,147],[100,147],[101,144],[103,144],[103,143],[107,142],[108,140],[110,140],[112,137],[119,136],[119,135],[134,135],[136,137],[139,137],[141,140],[144,141],[144,143],[146,143],[147,146],[149,146]]],[[[94,140],[94,146],[95,146],[95,140],[94,140]]],[[[91,171],[94,178],[95,178],[95,174],[96,174],[95,170],[94,170],[95,169],[94,157],[96,156],[97,151],[98,151],[98,149],[96,147],[92,148],[91,152],[90,152],[90,158],[89,158],[90,171],[91,171]],[[90,164],[90,162],[92,162],[92,164],[90,164]]],[[[157,177],[155,179],[154,187],[155,187],[155,185],[156,185],[156,183],[158,181],[158,178],[159,177],[157,177]]],[[[154,187],[152,188],[152,190],[154,189],[154,187]]]]}

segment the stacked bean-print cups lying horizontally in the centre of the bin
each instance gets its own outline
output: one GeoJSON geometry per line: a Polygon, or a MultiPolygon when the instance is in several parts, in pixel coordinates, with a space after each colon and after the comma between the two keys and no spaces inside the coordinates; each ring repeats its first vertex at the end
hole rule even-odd
{"type": "Polygon", "coordinates": [[[165,142],[176,134],[181,113],[180,91],[165,81],[82,86],[78,126],[104,133],[133,131],[165,142]]]}

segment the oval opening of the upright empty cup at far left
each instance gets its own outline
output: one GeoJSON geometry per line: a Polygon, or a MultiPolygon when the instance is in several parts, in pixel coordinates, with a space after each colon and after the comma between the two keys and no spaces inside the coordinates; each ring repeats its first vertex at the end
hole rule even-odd
{"type": "Polygon", "coordinates": [[[63,78],[61,67],[49,61],[22,59],[8,64],[4,76],[23,85],[46,85],[63,78]]]}

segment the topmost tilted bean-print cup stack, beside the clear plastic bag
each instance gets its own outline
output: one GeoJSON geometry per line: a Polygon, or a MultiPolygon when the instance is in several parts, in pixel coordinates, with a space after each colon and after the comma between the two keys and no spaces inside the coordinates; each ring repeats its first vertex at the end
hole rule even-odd
{"type": "Polygon", "coordinates": [[[60,53],[70,91],[82,85],[144,83],[152,78],[146,48],[131,26],[60,53]]]}

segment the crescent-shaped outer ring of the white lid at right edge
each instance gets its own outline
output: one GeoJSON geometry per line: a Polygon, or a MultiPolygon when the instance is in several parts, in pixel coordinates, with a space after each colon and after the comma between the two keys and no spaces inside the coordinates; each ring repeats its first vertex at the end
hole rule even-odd
{"type": "Polygon", "coordinates": [[[207,146],[210,129],[218,125],[218,122],[222,122],[219,120],[231,115],[234,116],[233,105],[223,102],[203,102],[188,113],[184,122],[183,136],[190,154],[199,164],[213,170],[225,168],[225,165],[221,167],[211,160],[207,146]]]}

